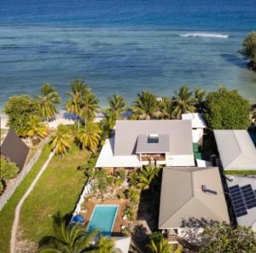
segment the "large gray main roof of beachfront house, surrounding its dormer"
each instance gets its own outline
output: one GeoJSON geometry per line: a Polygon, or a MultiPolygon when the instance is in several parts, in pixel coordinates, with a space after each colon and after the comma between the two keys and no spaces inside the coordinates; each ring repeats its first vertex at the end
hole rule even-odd
{"type": "MultiPolygon", "coordinates": [[[[117,120],[114,138],[114,155],[135,154],[138,150],[150,150],[140,135],[158,134],[169,136],[168,152],[171,154],[193,154],[192,128],[190,120],[117,120]],[[137,144],[139,144],[137,150],[137,144]]],[[[166,142],[159,148],[166,152],[166,142]]],[[[153,146],[152,146],[153,147],[153,146]]],[[[152,149],[153,150],[153,149],[152,149]]]]}

